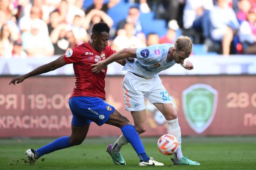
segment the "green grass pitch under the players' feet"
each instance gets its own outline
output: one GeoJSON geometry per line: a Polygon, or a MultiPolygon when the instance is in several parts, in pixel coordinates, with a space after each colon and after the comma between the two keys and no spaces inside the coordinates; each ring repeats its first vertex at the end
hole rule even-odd
{"type": "Polygon", "coordinates": [[[0,139],[0,170],[256,170],[256,137],[190,137],[182,139],[182,153],[200,166],[173,165],[156,146],[157,138],[141,138],[150,157],[163,167],[139,167],[131,145],[121,152],[127,165],[115,165],[105,151],[116,138],[86,139],[81,145],[40,157],[25,164],[24,152],[54,139],[0,139]]]}

